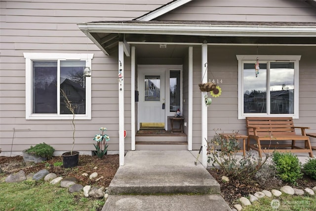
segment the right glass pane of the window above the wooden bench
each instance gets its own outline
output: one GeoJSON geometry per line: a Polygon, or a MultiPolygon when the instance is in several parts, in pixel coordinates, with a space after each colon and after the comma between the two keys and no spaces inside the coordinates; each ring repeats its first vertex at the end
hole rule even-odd
{"type": "Polygon", "coordinates": [[[294,113],[293,62],[270,64],[270,106],[271,114],[294,113]]]}

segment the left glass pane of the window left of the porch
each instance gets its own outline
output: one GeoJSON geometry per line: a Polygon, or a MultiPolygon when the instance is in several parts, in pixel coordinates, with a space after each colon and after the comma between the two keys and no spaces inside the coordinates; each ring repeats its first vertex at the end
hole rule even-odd
{"type": "Polygon", "coordinates": [[[33,61],[33,113],[57,113],[57,61],[33,61]]]}

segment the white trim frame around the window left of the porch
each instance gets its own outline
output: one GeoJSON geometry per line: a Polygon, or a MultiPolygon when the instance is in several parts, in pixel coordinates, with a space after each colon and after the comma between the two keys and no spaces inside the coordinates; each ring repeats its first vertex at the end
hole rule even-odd
{"type": "MultiPolygon", "coordinates": [[[[93,53],[23,53],[25,58],[25,118],[26,120],[70,120],[72,115],[65,114],[33,114],[32,113],[32,60],[85,60],[86,67],[91,70],[93,53]]],[[[59,73],[58,73],[59,74],[59,73]]],[[[91,77],[86,82],[86,114],[75,115],[75,120],[91,120],[91,77]]],[[[59,93],[59,92],[58,92],[59,93]]],[[[59,95],[58,95],[59,96],[59,95]]],[[[57,97],[59,103],[59,97],[57,97]]]]}

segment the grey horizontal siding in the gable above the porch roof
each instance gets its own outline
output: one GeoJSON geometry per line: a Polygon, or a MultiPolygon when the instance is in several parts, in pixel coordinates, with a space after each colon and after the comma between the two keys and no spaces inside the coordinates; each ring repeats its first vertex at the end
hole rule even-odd
{"type": "Polygon", "coordinates": [[[315,22],[315,8],[297,0],[194,0],[158,20],[315,22]]]}

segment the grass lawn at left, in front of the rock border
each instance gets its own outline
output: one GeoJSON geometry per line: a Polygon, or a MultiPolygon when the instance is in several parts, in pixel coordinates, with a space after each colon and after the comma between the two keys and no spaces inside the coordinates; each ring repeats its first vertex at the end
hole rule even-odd
{"type": "Polygon", "coordinates": [[[0,211],[96,211],[104,203],[44,181],[0,183],[0,211]]]}

